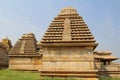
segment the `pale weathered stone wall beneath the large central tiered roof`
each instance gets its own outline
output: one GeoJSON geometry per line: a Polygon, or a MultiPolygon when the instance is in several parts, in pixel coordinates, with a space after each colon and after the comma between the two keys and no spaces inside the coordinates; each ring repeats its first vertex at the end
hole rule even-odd
{"type": "Polygon", "coordinates": [[[89,53],[90,49],[82,47],[44,47],[42,70],[94,70],[94,59],[89,53]]]}

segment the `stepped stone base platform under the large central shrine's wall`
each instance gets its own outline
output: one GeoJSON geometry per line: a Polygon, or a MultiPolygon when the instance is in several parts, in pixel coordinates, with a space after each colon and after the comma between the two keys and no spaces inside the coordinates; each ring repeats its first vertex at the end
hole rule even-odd
{"type": "Polygon", "coordinates": [[[81,71],[39,71],[42,77],[72,77],[77,80],[98,80],[98,70],[81,70],[81,71]]]}

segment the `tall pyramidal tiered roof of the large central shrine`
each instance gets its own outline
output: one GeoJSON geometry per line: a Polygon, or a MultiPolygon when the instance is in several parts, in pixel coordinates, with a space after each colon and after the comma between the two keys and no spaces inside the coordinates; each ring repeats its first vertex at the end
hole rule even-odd
{"type": "Polygon", "coordinates": [[[49,25],[48,30],[42,38],[43,43],[47,42],[81,42],[95,43],[88,26],[79,16],[77,10],[66,7],[61,10],[57,17],[49,25]]]}

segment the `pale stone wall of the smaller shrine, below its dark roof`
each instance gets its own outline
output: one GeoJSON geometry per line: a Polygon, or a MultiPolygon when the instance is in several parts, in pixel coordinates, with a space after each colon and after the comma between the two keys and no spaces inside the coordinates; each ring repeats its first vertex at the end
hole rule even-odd
{"type": "Polygon", "coordinates": [[[41,60],[38,57],[16,57],[11,58],[9,69],[14,70],[38,70],[41,68],[41,60]]]}

